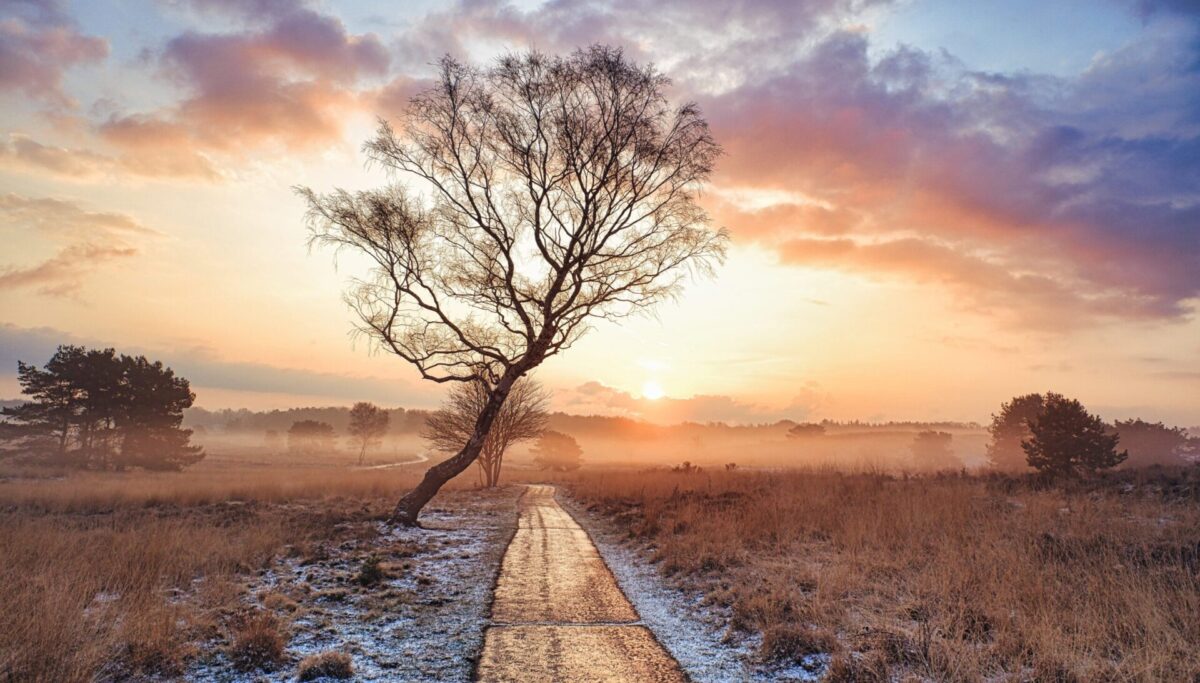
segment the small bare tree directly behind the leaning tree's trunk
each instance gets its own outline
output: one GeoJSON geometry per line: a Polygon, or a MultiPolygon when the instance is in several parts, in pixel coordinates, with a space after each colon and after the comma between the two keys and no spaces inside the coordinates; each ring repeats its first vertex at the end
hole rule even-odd
{"type": "MultiPolygon", "coordinates": [[[[455,385],[442,409],[426,420],[421,436],[438,450],[458,453],[470,441],[490,397],[491,389],[481,382],[455,385]]],[[[546,391],[529,377],[512,384],[475,461],[484,486],[492,489],[499,484],[500,466],[509,447],[541,436],[546,429],[546,391]]]]}

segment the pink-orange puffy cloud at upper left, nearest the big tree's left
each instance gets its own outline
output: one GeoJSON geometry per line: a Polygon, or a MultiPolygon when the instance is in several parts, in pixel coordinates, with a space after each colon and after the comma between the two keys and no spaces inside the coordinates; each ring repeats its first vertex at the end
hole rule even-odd
{"type": "Polygon", "coordinates": [[[137,155],[174,150],[181,163],[264,146],[317,149],[341,142],[346,114],[360,106],[359,82],[388,74],[390,55],[377,36],[352,35],[299,4],[194,5],[263,25],[170,38],[157,64],[190,94],[164,109],[109,116],[100,133],[110,144],[137,155]]]}

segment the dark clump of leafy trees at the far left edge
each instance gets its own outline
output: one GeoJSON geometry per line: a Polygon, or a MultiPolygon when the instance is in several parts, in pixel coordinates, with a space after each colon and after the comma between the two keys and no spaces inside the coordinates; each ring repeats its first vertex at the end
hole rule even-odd
{"type": "Polygon", "coordinates": [[[18,363],[17,381],[30,400],[0,412],[8,454],[118,471],[179,471],[204,457],[181,427],[196,395],[160,361],[60,346],[43,367],[18,363]]]}

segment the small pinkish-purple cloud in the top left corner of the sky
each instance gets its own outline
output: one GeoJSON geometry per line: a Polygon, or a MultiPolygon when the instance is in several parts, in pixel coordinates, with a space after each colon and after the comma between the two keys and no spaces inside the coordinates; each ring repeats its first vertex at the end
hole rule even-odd
{"type": "Polygon", "coordinates": [[[108,42],[79,32],[56,0],[12,0],[0,14],[0,90],[74,108],[62,74],[107,55],[108,42]]]}

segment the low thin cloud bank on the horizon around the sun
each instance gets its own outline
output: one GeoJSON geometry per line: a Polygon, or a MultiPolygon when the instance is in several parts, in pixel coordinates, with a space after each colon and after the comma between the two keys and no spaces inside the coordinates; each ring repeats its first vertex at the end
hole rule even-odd
{"type": "Polygon", "coordinates": [[[557,390],[556,409],[578,415],[624,415],[659,424],[715,423],[762,424],[779,420],[804,420],[826,403],[816,384],[808,384],[788,405],[768,407],[720,395],[688,399],[664,397],[654,401],[636,397],[600,382],[586,382],[574,389],[557,390]]]}

